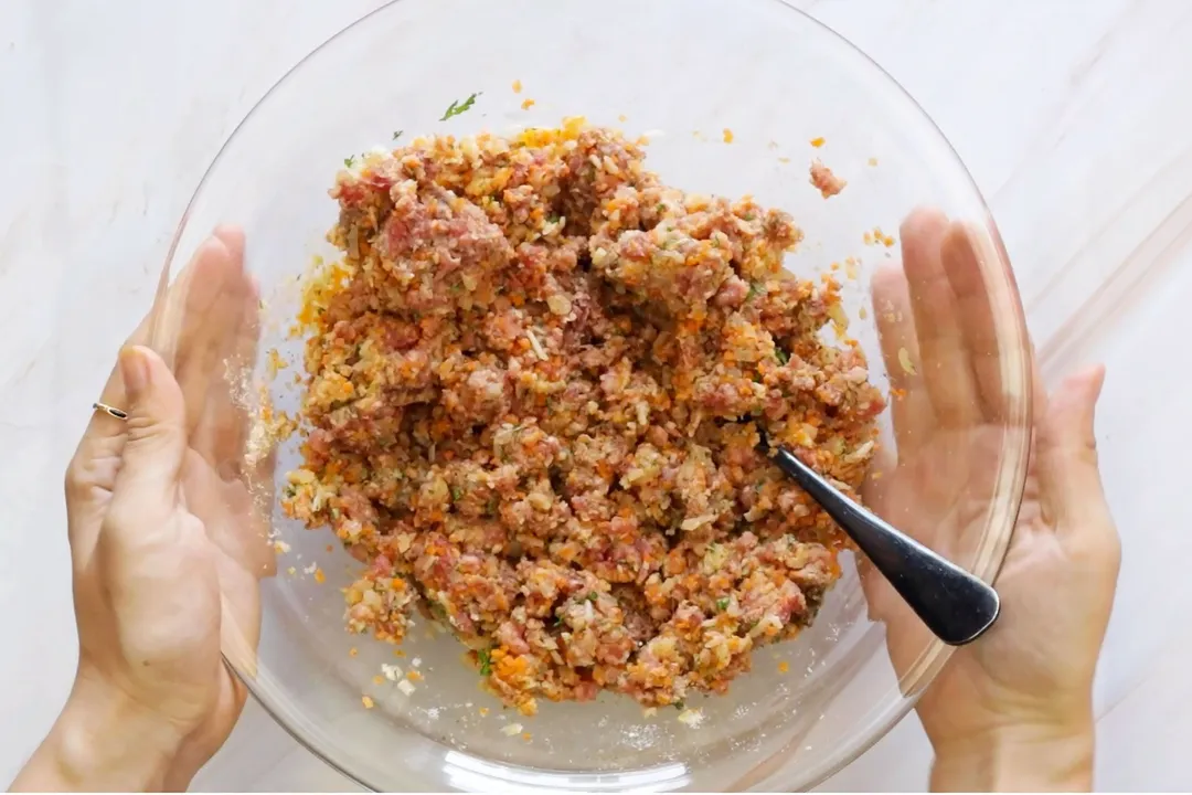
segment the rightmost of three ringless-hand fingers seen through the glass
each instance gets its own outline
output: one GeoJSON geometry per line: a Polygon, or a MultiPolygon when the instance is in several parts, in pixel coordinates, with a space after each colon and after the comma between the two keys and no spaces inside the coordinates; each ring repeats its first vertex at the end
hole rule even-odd
{"type": "Polygon", "coordinates": [[[1002,385],[998,324],[977,256],[979,234],[966,224],[952,224],[944,238],[942,260],[956,297],[956,317],[969,352],[979,405],[988,420],[1002,420],[1012,396],[1002,385]]]}

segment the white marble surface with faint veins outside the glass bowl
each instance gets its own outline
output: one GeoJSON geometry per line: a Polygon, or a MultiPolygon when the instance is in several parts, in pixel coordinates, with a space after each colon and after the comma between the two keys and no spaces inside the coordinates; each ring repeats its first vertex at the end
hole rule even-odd
{"type": "MultiPolygon", "coordinates": [[[[61,472],[223,139],[380,0],[0,2],[0,781],[74,667],[61,472]],[[80,300],[85,297],[86,300],[80,300]],[[69,305],[70,316],[61,308],[69,305]]],[[[1000,225],[1049,383],[1101,360],[1124,540],[1098,679],[1101,789],[1187,789],[1192,741],[1192,2],[800,0],[923,104],[1000,225]],[[1162,617],[1163,615],[1168,617],[1162,617]]],[[[908,719],[827,789],[918,789],[908,719]]],[[[255,706],[197,788],[347,782],[255,706]]]]}

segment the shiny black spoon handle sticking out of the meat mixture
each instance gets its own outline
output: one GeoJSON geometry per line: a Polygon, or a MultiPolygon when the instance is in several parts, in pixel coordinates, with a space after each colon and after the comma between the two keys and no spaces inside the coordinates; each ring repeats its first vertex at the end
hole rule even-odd
{"type": "Polygon", "coordinates": [[[845,497],[791,452],[778,448],[772,455],[774,462],[852,536],[937,638],[963,646],[993,626],[1000,601],[991,585],[845,497]]]}

